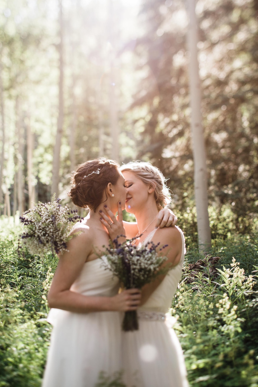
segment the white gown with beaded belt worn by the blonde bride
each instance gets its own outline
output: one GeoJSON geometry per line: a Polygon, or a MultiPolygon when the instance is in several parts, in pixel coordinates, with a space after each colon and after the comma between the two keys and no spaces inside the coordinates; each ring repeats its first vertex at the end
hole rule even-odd
{"type": "MultiPolygon", "coordinates": [[[[144,244],[153,238],[155,231],[144,244]]],[[[182,348],[171,324],[173,318],[165,316],[182,275],[185,241],[183,232],[179,231],[182,237],[180,262],[166,274],[148,301],[138,309],[139,330],[122,333],[127,387],[188,386],[182,348]]]]}

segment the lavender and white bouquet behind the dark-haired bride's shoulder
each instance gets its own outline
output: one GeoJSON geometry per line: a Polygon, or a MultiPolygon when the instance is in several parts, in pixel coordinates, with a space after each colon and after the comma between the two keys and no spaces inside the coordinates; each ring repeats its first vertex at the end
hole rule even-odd
{"type": "Polygon", "coordinates": [[[77,214],[77,210],[62,207],[60,200],[54,194],[51,202],[38,202],[20,216],[24,224],[20,238],[31,254],[42,255],[49,250],[57,254],[68,251],[66,243],[78,234],[70,235],[73,224],[81,222],[83,218],[77,214]]]}

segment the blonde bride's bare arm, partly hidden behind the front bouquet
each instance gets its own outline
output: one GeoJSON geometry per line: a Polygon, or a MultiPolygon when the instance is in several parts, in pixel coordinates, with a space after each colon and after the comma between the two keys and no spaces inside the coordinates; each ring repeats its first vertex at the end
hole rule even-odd
{"type": "MultiPolygon", "coordinates": [[[[161,247],[163,245],[168,245],[168,247],[166,247],[160,252],[160,255],[163,255],[168,258],[168,260],[163,264],[163,266],[170,264],[173,267],[179,263],[182,254],[182,238],[180,235],[180,231],[178,231],[176,227],[163,228],[157,230],[154,235],[153,242],[155,244],[160,242],[161,247]]],[[[159,276],[152,283],[143,286],[140,305],[146,303],[149,296],[151,296],[151,294],[160,285],[164,278],[165,275],[159,276]]]]}

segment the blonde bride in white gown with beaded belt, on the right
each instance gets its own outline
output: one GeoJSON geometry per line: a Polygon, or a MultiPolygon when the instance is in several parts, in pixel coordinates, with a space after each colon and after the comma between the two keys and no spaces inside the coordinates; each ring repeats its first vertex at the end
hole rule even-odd
{"type": "MultiPolygon", "coordinates": [[[[155,245],[159,242],[166,245],[160,254],[168,258],[165,264],[172,266],[166,275],[142,288],[137,308],[139,330],[122,332],[124,381],[127,387],[187,387],[182,348],[172,324],[169,326],[171,317],[165,322],[165,313],[171,307],[182,275],[183,232],[177,226],[155,227],[158,212],[171,202],[165,178],[158,168],[150,163],[132,162],[120,170],[127,190],[126,211],[137,219],[136,243],[146,245],[153,241],[155,245]]],[[[114,238],[111,229],[109,233],[114,238]]]]}

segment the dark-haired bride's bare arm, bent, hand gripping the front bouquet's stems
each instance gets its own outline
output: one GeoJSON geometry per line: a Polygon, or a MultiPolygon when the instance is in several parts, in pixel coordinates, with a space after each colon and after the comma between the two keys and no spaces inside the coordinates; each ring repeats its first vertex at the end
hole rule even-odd
{"type": "Polygon", "coordinates": [[[58,267],[48,293],[48,303],[51,308],[86,313],[135,310],[139,306],[141,295],[137,289],[126,290],[113,297],[85,296],[71,291],[71,285],[80,274],[92,250],[92,239],[87,227],[83,233],[69,241],[68,250],[69,252],[59,257],[58,267]]]}

